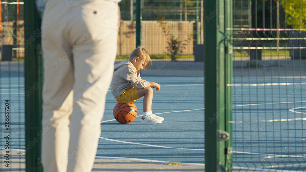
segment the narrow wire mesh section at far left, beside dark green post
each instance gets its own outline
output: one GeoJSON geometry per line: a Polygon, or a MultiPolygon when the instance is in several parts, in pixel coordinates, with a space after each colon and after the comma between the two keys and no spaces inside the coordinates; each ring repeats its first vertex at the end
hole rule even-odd
{"type": "Polygon", "coordinates": [[[25,170],[24,2],[0,1],[0,5],[0,171],[21,171],[25,170]]]}

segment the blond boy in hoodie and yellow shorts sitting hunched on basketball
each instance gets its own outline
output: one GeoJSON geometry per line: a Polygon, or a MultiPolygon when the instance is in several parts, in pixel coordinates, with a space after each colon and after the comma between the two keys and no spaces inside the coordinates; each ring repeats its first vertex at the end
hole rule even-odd
{"type": "Polygon", "coordinates": [[[160,90],[160,85],[155,82],[142,80],[139,76],[140,69],[147,69],[151,64],[149,53],[141,46],[132,51],[129,60],[125,59],[114,66],[114,74],[111,82],[111,91],[119,103],[133,103],[144,97],[144,114],[141,124],[162,123],[164,118],[154,115],[151,110],[153,89],[160,90]]]}

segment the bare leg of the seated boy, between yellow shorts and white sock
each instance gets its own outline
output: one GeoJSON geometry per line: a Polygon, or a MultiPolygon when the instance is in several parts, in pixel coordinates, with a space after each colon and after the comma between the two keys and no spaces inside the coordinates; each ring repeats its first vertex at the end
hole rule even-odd
{"type": "Polygon", "coordinates": [[[143,89],[137,89],[137,94],[139,97],[144,97],[142,102],[144,112],[149,112],[152,109],[152,101],[153,101],[153,89],[151,87],[145,87],[143,89]]]}

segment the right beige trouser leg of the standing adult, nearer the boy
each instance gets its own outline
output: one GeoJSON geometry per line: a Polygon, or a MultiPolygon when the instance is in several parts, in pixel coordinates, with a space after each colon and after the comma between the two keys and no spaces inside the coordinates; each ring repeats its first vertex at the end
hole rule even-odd
{"type": "Polygon", "coordinates": [[[86,2],[74,7],[69,30],[71,42],[80,43],[73,55],[76,81],[67,168],[73,172],[89,172],[93,166],[117,53],[118,3],[86,2]]]}

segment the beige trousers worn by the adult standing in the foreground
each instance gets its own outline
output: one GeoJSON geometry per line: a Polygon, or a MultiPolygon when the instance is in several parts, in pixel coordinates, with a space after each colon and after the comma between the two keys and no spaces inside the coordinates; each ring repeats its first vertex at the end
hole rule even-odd
{"type": "Polygon", "coordinates": [[[47,1],[41,27],[45,172],[92,169],[114,71],[119,12],[118,3],[106,0],[47,1]]]}

